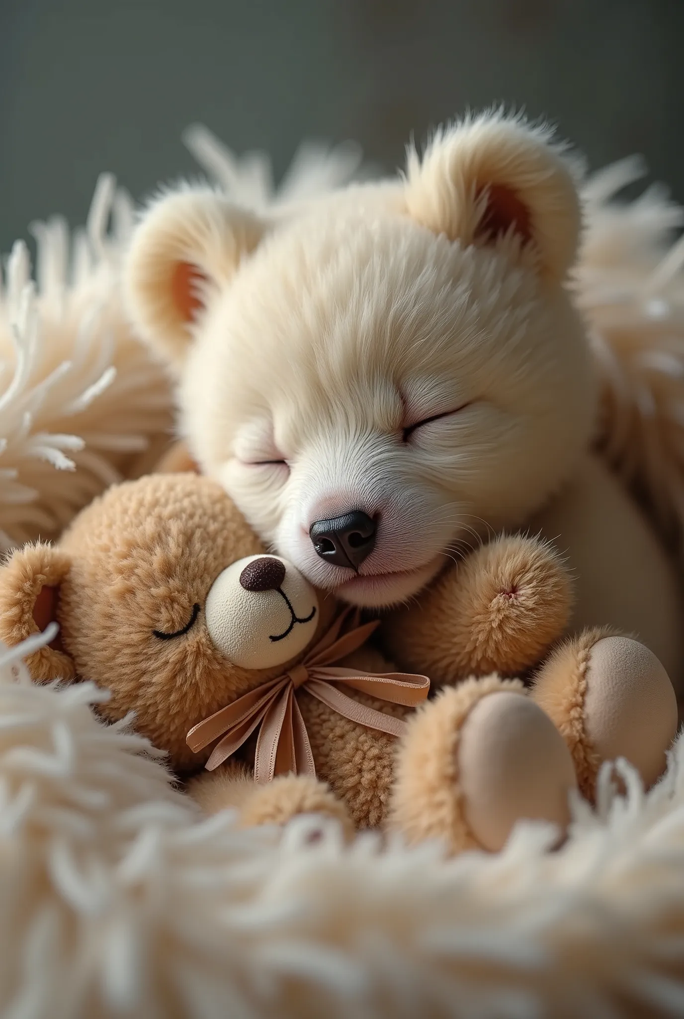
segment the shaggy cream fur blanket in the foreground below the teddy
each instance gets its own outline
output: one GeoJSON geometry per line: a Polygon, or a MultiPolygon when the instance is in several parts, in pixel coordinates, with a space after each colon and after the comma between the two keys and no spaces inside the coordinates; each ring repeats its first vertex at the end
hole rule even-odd
{"type": "MultiPolygon", "coordinates": [[[[0,1014],[323,1019],[684,1014],[684,743],[644,796],[622,767],[564,848],[344,848],[201,820],[89,684],[0,667],[0,1014]]],[[[16,668],[16,666],[14,666],[16,668]]],[[[311,841],[311,835],[318,837],[311,841]]]]}

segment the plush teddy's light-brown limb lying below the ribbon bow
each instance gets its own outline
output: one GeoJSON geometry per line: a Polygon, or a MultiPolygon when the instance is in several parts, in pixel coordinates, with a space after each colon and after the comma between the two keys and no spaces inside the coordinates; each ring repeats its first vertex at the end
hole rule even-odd
{"type": "Polygon", "coordinates": [[[240,827],[285,824],[297,814],[322,814],[340,821],[346,837],[353,830],[344,804],[325,783],[308,775],[284,774],[258,784],[246,768],[232,764],[203,772],[188,783],[187,791],[209,814],[236,808],[240,827]]]}

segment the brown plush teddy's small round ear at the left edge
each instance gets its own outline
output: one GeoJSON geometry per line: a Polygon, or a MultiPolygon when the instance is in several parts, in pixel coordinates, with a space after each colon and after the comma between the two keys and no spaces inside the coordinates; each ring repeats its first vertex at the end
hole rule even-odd
{"type": "MultiPolygon", "coordinates": [[[[57,621],[59,587],[70,569],[68,556],[52,545],[24,545],[0,568],[0,640],[8,647],[43,633],[57,621]]],[[[59,637],[26,659],[34,680],[72,680],[73,660],[59,637]]]]}

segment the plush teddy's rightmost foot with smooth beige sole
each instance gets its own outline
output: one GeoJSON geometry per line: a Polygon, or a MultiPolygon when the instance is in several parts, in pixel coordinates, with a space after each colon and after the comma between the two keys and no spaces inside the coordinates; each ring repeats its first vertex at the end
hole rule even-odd
{"type": "Polygon", "coordinates": [[[587,798],[605,760],[625,757],[646,787],[665,770],[677,699],[665,668],[638,641],[606,629],[582,631],[544,663],[532,699],[565,739],[587,798]]]}

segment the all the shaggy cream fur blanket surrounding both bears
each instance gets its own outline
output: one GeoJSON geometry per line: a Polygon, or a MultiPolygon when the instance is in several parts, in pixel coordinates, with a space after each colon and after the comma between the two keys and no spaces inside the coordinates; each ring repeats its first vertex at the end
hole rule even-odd
{"type": "MultiPolygon", "coordinates": [[[[263,206],[262,155],[202,127],[217,186],[263,206]]],[[[358,173],[354,147],[300,150],[280,200],[358,173]]],[[[596,442],[680,542],[684,242],[662,193],[618,205],[633,161],[586,185],[574,281],[604,383],[596,442]]],[[[0,288],[0,530],[59,533],[168,441],[169,386],[121,312],[132,205],[110,177],[84,230],[35,228],[0,288]]],[[[681,543],[681,542],[680,542],[681,543]]],[[[684,737],[648,794],[624,763],[569,838],[522,824],[496,855],[443,858],[299,818],[198,816],[152,747],[103,727],[89,684],[35,687],[0,659],[0,1015],[5,1019],[684,1015],[684,737]],[[94,710],[95,708],[95,710],[94,710]],[[619,788],[618,788],[619,787],[619,788]]]]}

